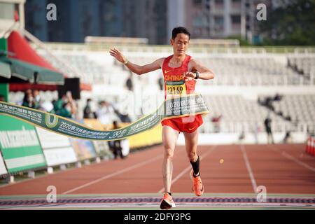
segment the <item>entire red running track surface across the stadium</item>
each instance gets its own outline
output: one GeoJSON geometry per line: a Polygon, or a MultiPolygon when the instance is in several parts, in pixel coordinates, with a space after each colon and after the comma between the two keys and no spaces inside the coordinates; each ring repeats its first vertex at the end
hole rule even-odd
{"type": "MultiPolygon", "coordinates": [[[[315,168],[314,158],[299,157],[304,145],[198,146],[205,193],[254,193],[255,179],[257,186],[267,187],[267,193],[315,194],[315,172],[283,156],[282,151],[315,168]]],[[[103,161],[2,186],[0,195],[45,195],[50,185],[57,188],[57,194],[158,193],[163,187],[162,155],[162,146],[155,146],[125,160],[103,161]]],[[[185,148],[176,146],[173,180],[179,178],[172,192],[191,193],[189,172],[185,148]]]]}

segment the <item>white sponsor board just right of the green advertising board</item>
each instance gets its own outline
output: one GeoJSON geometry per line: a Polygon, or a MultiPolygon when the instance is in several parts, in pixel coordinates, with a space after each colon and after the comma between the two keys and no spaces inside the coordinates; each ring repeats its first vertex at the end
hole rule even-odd
{"type": "Polygon", "coordinates": [[[62,165],[76,162],[76,153],[70,144],[69,138],[54,132],[48,132],[36,127],[38,139],[41,142],[43,153],[48,166],[62,165]]]}

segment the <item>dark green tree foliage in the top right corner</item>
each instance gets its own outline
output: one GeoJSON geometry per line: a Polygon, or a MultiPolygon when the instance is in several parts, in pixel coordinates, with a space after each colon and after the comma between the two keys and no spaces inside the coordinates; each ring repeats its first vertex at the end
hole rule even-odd
{"type": "Polygon", "coordinates": [[[315,0],[283,1],[260,22],[263,45],[315,45],[315,0]]]}

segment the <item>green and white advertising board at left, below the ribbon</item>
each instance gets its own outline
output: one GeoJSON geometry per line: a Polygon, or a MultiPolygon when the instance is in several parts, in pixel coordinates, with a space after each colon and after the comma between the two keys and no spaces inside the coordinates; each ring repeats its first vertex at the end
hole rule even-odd
{"type": "Polygon", "coordinates": [[[45,167],[33,125],[0,115],[0,150],[9,174],[45,167]]]}

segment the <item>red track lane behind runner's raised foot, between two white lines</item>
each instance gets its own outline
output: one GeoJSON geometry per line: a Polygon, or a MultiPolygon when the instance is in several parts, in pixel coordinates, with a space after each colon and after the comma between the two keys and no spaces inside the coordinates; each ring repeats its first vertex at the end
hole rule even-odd
{"type": "MultiPolygon", "coordinates": [[[[186,165],[188,166],[188,165],[186,165]]],[[[200,162],[200,174],[207,193],[253,193],[239,146],[217,146],[200,162]],[[220,163],[223,159],[224,162],[220,163]]],[[[174,192],[192,192],[188,173],[172,187],[174,192]]]]}

